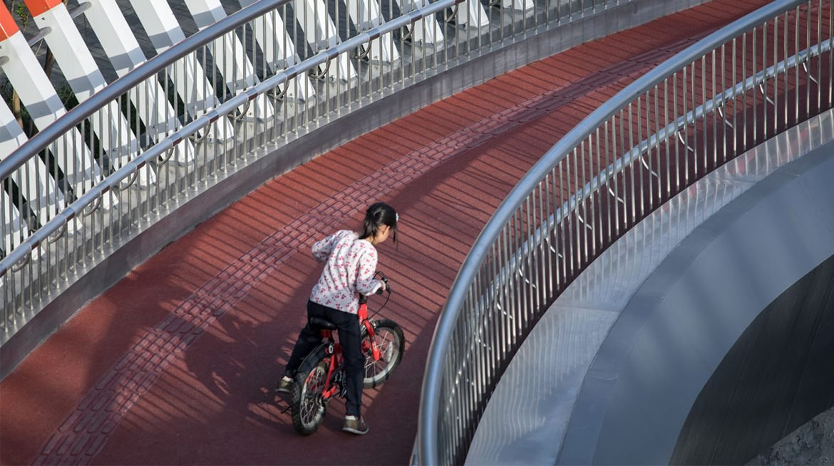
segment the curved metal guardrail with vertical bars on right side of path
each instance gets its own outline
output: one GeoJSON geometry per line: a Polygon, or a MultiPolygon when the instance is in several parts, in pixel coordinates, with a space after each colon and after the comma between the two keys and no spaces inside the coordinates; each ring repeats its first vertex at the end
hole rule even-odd
{"type": "Polygon", "coordinates": [[[831,10],[777,0],[732,22],[625,87],[530,169],[475,241],[436,326],[419,464],[465,461],[515,351],[607,245],[716,166],[831,107],[831,10]]]}

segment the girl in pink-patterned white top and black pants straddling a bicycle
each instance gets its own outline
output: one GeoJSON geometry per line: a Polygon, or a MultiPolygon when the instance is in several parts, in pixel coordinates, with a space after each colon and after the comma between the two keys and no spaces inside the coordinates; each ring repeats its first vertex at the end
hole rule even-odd
{"type": "MultiPolygon", "coordinates": [[[[397,212],[391,206],[377,202],[365,211],[361,233],[341,230],[313,245],[315,260],[326,260],[327,263],[307,301],[307,318],[329,320],[339,330],[347,387],[342,430],[351,434],[368,433],[368,424],[360,412],[364,354],[357,316],[359,294],[370,295],[377,290],[385,290],[384,281],[374,278],[377,264],[375,246],[387,240],[389,235],[394,241],[397,240],[397,220],[397,212]]],[[[321,340],[319,330],[312,328],[309,323],[304,325],[276,391],[291,391],[299,365],[321,340]]]]}

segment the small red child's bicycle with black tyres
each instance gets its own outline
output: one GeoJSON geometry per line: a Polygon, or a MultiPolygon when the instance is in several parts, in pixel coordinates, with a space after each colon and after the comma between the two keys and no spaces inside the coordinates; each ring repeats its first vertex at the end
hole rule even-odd
{"type": "MultiPolygon", "coordinates": [[[[381,272],[377,275],[385,282],[390,299],[388,279],[381,272]]],[[[381,291],[378,293],[381,294],[381,291]]],[[[388,299],[379,310],[388,304],[388,299]]],[[[403,359],[405,338],[403,330],[394,320],[370,319],[367,302],[367,296],[359,296],[359,324],[362,327],[362,352],[365,354],[363,384],[364,388],[371,389],[382,384],[397,369],[403,359]]],[[[293,426],[303,435],[313,434],[319,429],[330,400],[336,396],[344,398],[347,393],[342,347],[334,338],[336,326],[317,317],[311,318],[309,323],[319,328],[323,340],[299,366],[289,404],[293,426]]]]}

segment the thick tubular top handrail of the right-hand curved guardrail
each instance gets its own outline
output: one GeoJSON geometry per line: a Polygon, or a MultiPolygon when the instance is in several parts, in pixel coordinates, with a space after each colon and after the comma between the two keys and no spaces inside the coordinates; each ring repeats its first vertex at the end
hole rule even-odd
{"type": "MultiPolygon", "coordinates": [[[[564,161],[572,151],[575,151],[576,147],[583,144],[590,135],[597,131],[600,126],[604,125],[606,121],[615,117],[617,113],[621,112],[625,107],[628,107],[638,97],[641,97],[653,87],[656,87],[656,85],[664,82],[667,77],[679,72],[701,57],[704,57],[706,53],[716,50],[716,47],[720,47],[735,37],[741,37],[754,27],[774,17],[778,17],[803,3],[806,3],[806,1],[776,0],[775,2],[771,2],[766,7],[756,10],[756,12],[751,12],[746,17],[731,22],[726,27],[722,27],[720,30],[704,37],[701,41],[696,42],[674,57],[661,63],[661,65],[655,67],[651,72],[637,79],[636,82],[632,82],[629,86],[618,92],[615,97],[610,98],[610,100],[598,107],[594,112],[591,112],[588,117],[582,120],[573,130],[551,147],[515,186],[513,191],[505,198],[505,201],[500,204],[495,214],[475,240],[469,255],[466,256],[460,272],[452,285],[444,310],[435,327],[430,353],[425,365],[421,394],[418,442],[416,446],[416,453],[418,454],[420,464],[443,464],[449,460],[448,458],[440,459],[437,425],[438,419],[442,416],[440,402],[443,371],[448,369],[445,367],[445,364],[446,358],[452,351],[451,342],[453,334],[458,321],[466,317],[465,315],[461,315],[465,302],[473,295],[475,295],[475,300],[479,300],[477,298],[477,290],[473,290],[473,287],[475,286],[475,279],[480,272],[480,267],[485,264],[485,261],[490,255],[490,250],[500,240],[500,236],[504,234],[505,227],[511,221],[514,221],[515,216],[524,203],[528,201],[529,196],[535,190],[539,189],[540,182],[556,166],[559,166],[560,162],[564,161]]],[[[631,153],[631,151],[627,153],[631,153]]],[[[598,186],[602,185],[599,184],[598,186]]],[[[505,252],[506,256],[515,258],[516,254],[514,252],[505,252]]],[[[520,345],[520,342],[517,342],[517,344],[520,345]]],[[[512,351],[510,351],[511,353],[512,351]]],[[[489,398],[489,394],[481,395],[487,399],[489,398]]],[[[448,406],[445,408],[448,409],[448,406]]],[[[472,421],[473,419],[456,418],[455,425],[467,425],[467,423],[471,423],[472,421]]],[[[473,426],[469,424],[468,427],[472,428],[473,426]]],[[[457,460],[462,461],[460,458],[457,460]]]]}

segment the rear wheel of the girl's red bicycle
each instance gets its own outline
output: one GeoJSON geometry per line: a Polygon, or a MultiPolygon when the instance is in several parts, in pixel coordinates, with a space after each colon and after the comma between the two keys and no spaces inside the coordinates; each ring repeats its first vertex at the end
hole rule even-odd
{"type": "Polygon", "coordinates": [[[313,434],[327,414],[327,400],[322,398],[329,357],[319,359],[309,371],[295,374],[293,389],[293,427],[302,435],[313,434]]]}

